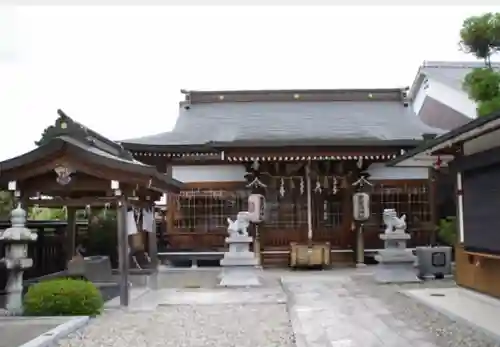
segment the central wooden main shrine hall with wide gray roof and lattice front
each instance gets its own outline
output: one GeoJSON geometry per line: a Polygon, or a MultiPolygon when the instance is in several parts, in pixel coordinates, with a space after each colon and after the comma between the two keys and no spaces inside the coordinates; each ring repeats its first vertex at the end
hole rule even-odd
{"type": "Polygon", "coordinates": [[[415,116],[407,92],[184,91],[172,131],[121,143],[190,187],[169,200],[172,249],[223,248],[226,218],[259,192],[268,207],[259,228],[264,263],[274,254],[286,262],[290,242],[311,241],[329,242],[337,260],[352,261],[352,194],[362,176],[375,182],[367,247],[380,247],[382,207],[409,214],[417,238],[427,242],[427,169],[384,165],[443,132],[415,116]]]}

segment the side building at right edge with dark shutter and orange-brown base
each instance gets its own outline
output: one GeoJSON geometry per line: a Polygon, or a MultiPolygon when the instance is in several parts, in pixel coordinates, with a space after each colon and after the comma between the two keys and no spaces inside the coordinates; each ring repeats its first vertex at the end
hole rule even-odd
{"type": "Polygon", "coordinates": [[[393,160],[440,163],[454,178],[456,282],[500,298],[500,112],[482,116],[393,160]],[[425,159],[425,160],[424,160],[425,159]]]}

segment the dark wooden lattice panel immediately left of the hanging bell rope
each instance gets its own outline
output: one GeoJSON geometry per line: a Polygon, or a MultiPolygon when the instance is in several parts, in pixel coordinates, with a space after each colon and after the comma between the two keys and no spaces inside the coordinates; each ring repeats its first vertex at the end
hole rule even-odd
{"type": "Polygon", "coordinates": [[[282,229],[307,226],[307,195],[305,192],[300,192],[299,185],[297,179],[294,188],[288,188],[284,196],[279,192],[280,187],[267,189],[266,226],[282,229]]]}

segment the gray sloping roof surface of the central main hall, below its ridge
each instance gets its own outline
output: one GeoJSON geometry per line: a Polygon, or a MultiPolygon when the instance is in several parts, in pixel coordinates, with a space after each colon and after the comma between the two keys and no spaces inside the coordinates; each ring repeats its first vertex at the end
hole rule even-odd
{"type": "Polygon", "coordinates": [[[220,102],[179,108],[173,131],[124,143],[202,145],[247,140],[411,140],[443,130],[402,101],[220,102]]]}

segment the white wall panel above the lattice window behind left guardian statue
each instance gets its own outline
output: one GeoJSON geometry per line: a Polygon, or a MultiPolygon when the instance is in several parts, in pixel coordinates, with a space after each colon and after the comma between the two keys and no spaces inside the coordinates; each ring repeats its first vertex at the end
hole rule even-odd
{"type": "Polygon", "coordinates": [[[172,167],[172,177],[190,182],[244,182],[243,165],[178,165],[172,167]]]}

